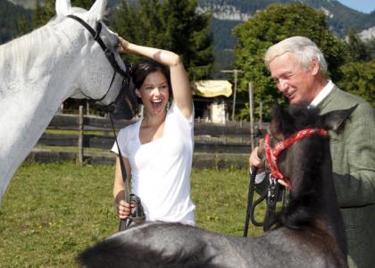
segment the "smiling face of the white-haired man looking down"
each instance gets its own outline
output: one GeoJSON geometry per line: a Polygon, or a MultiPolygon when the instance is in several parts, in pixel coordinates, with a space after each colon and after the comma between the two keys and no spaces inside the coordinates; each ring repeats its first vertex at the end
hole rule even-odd
{"type": "Polygon", "coordinates": [[[312,63],[311,70],[305,71],[291,53],[282,54],[271,61],[271,77],[291,105],[310,104],[317,95],[314,88],[315,65],[312,63]]]}

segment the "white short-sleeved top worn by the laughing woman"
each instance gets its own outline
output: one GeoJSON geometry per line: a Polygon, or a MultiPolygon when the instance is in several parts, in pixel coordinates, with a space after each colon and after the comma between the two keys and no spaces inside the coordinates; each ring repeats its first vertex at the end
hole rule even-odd
{"type": "MultiPolygon", "coordinates": [[[[195,224],[190,197],[194,148],[194,114],[187,118],[174,102],[164,123],[162,138],[141,144],[142,119],[121,129],[118,142],[131,167],[131,191],[141,198],[147,221],[195,224]]],[[[112,151],[118,153],[117,146],[112,151]]]]}

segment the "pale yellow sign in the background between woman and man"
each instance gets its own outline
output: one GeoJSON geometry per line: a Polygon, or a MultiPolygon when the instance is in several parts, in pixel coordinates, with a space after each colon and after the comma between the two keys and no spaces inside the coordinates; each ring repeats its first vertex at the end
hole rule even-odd
{"type": "Polygon", "coordinates": [[[194,95],[213,97],[230,96],[232,84],[228,80],[200,80],[193,83],[194,95]]]}

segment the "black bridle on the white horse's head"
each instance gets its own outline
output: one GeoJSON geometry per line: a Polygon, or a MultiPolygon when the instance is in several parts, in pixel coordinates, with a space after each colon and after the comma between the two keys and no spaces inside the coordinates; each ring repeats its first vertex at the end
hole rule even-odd
{"type": "MultiPolygon", "coordinates": [[[[83,21],[81,18],[79,18],[75,15],[68,15],[67,17],[73,19],[74,21],[78,21],[83,27],[85,27],[88,30],[88,32],[91,34],[91,36],[97,42],[97,44],[99,44],[99,46],[102,47],[102,49],[104,51],[104,54],[105,54],[105,57],[107,58],[108,62],[111,64],[111,66],[113,68],[112,80],[111,80],[111,83],[110,83],[107,91],[105,92],[104,96],[102,96],[101,98],[98,98],[98,99],[94,99],[94,98],[92,98],[90,96],[87,96],[84,93],[82,93],[83,95],[85,95],[89,99],[101,101],[109,93],[109,91],[112,87],[113,80],[116,76],[116,73],[120,73],[121,76],[123,77],[123,80],[122,80],[122,84],[123,84],[123,83],[129,83],[129,72],[121,69],[119,63],[117,63],[117,61],[116,61],[115,54],[113,53],[113,51],[111,49],[109,49],[107,46],[105,46],[103,39],[100,38],[100,33],[101,33],[102,27],[103,27],[103,25],[100,21],[98,21],[98,23],[96,25],[96,29],[93,29],[90,25],[87,24],[86,21],[83,21]]],[[[119,94],[117,96],[114,103],[116,103],[116,101],[118,100],[118,98],[120,96],[121,96],[121,94],[119,94]]]]}

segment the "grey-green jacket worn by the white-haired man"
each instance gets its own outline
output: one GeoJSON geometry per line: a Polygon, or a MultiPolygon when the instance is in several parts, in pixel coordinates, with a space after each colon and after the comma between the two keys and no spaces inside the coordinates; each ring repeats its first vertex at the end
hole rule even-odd
{"type": "Polygon", "coordinates": [[[349,266],[375,267],[375,112],[362,98],[337,87],[321,114],[358,104],[339,133],[330,131],[332,169],[349,249],[349,266]]]}

